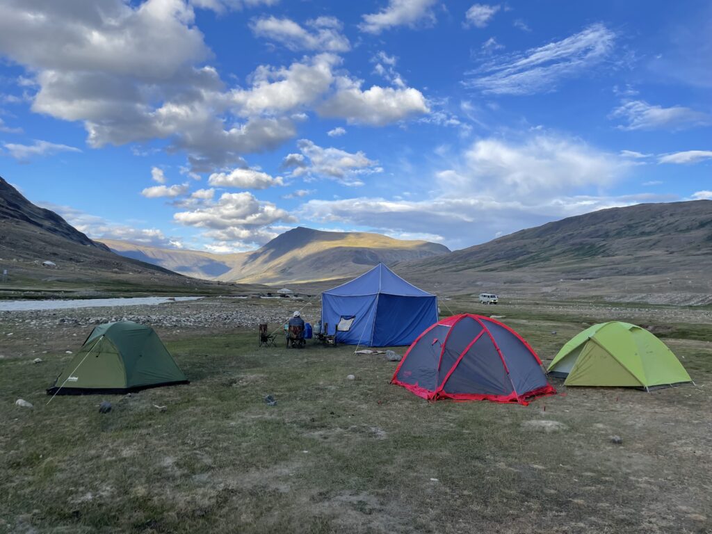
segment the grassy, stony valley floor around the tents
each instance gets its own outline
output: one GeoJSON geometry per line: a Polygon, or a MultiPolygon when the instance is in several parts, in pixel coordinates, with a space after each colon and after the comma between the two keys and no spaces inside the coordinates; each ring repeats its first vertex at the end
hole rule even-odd
{"type": "Polygon", "coordinates": [[[696,382],[553,379],[557,396],[522,407],[425,402],[353,347],[258,348],[250,325],[277,329],[293,304],[0,313],[0,532],[712,532],[709,308],[443,301],[503,316],[545,365],[592,323],[650,325],[696,382]],[[66,351],[124,317],[154,324],[191,384],[46,405],[66,351]]]}

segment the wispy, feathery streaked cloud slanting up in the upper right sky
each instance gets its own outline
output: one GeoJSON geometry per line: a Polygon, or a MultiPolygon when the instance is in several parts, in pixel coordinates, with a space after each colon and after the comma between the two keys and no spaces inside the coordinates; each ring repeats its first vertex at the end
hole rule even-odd
{"type": "Polygon", "coordinates": [[[464,82],[468,88],[499,95],[529,95],[555,90],[563,78],[589,72],[608,58],[616,35],[601,23],[525,53],[488,61],[464,82]]]}

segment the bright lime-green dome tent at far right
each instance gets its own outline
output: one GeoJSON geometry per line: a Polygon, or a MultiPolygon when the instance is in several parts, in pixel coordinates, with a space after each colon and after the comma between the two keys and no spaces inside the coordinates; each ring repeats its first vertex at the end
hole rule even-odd
{"type": "Polygon", "coordinates": [[[691,382],[673,352],[636,325],[612,321],[587,328],[564,345],[549,374],[567,386],[671,386],[691,382]]]}

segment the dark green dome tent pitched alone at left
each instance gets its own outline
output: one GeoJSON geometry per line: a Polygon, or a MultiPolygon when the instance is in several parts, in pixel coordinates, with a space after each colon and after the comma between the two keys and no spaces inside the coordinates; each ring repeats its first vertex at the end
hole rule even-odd
{"type": "Polygon", "coordinates": [[[122,321],[94,328],[47,394],[126,393],[187,383],[153,328],[122,321]]]}

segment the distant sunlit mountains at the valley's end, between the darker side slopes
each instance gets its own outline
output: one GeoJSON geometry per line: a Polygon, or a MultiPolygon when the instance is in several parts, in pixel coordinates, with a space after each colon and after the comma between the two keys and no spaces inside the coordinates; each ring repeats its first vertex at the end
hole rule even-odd
{"type": "Polygon", "coordinates": [[[352,276],[383,262],[428,258],[449,253],[428,241],[404,241],[365,232],[330,232],[298,227],[256,251],[211,254],[103,241],[112,251],[169,268],[221,281],[285,284],[352,276]]]}

